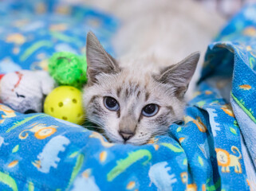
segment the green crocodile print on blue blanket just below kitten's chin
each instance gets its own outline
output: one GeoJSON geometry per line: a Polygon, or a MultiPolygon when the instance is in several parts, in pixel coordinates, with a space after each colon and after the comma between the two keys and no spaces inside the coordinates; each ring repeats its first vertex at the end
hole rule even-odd
{"type": "Polygon", "coordinates": [[[129,166],[132,166],[133,163],[139,161],[141,158],[144,157],[148,157],[148,160],[142,163],[143,165],[146,165],[152,159],[151,152],[149,150],[136,150],[132,153],[129,153],[127,158],[117,161],[116,166],[107,174],[108,181],[114,180],[129,166]]]}

